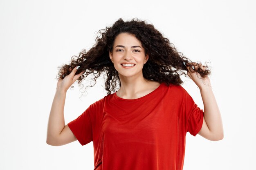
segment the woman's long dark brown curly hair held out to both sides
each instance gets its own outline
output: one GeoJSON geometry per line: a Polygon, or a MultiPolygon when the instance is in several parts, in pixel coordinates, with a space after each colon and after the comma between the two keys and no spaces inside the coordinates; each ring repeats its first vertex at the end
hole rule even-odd
{"type": "MultiPolygon", "coordinates": [[[[164,82],[167,85],[182,84],[183,81],[180,75],[187,75],[185,72],[187,71],[186,66],[189,66],[191,72],[195,71],[191,67],[195,65],[201,66],[200,62],[194,64],[187,57],[184,57],[182,53],[177,52],[175,46],[167,38],[164,38],[152,24],[148,24],[137,18],[126,22],[120,18],[112,26],[106,26],[106,29],[101,29],[97,33],[96,44],[88,52],[83,49],[79,53],[79,56],[72,56],[70,64],[65,64],[59,69],[58,78],[63,79],[71,73],[74,67],[80,66],[76,74],[82,71],[85,71],[85,73],[77,79],[78,84],[81,85],[81,81],[89,74],[94,75],[94,82],[96,84],[96,79],[103,72],[107,75],[105,82],[105,89],[108,91],[107,94],[110,95],[111,91],[115,93],[117,84],[121,86],[121,82],[118,72],[110,60],[109,52],[112,52],[114,40],[120,33],[130,33],[141,41],[145,49],[145,55],[149,54],[148,62],[144,64],[142,73],[144,78],[150,81],[164,82]]],[[[206,70],[198,67],[196,72],[202,78],[211,73],[208,66],[206,70]]]]}

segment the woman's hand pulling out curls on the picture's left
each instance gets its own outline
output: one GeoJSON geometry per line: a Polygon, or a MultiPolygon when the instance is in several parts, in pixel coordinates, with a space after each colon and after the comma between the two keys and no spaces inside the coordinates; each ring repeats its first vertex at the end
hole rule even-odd
{"type": "Polygon", "coordinates": [[[65,76],[64,79],[59,78],[56,89],[67,92],[68,88],[70,88],[70,86],[85,72],[85,71],[82,71],[81,73],[75,75],[79,67],[80,66],[73,68],[71,73],[65,76]]]}

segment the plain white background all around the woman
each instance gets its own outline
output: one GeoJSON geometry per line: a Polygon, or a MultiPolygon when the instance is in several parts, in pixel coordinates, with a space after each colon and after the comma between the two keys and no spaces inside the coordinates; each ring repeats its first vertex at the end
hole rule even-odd
{"type": "MultiPolygon", "coordinates": [[[[153,24],[184,56],[211,62],[224,139],[186,135],[184,170],[256,169],[256,12],[251,0],[0,1],[0,169],[93,170],[93,143],[46,144],[58,66],[90,49],[119,18],[153,24]]],[[[194,82],[182,85],[200,108],[194,82]]],[[[89,84],[83,82],[83,84],[89,84]]],[[[65,124],[106,95],[104,82],[67,91],[65,124]],[[82,88],[83,89],[83,88],[82,88]]]]}

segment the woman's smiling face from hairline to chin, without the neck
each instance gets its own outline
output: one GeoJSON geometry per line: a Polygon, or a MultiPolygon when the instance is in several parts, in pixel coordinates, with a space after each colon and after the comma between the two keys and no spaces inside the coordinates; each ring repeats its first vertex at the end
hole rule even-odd
{"type": "Polygon", "coordinates": [[[129,33],[117,35],[109,56],[120,78],[143,76],[142,68],[148,60],[148,55],[145,56],[145,50],[135,35],[129,33]]]}

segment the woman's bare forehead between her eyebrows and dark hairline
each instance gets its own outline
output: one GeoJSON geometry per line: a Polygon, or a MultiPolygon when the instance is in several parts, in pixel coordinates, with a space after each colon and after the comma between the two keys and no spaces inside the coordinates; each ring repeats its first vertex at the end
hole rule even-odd
{"type": "Polygon", "coordinates": [[[118,44],[121,45],[119,43],[122,44],[141,44],[140,40],[138,40],[135,35],[130,34],[130,33],[120,33],[119,35],[117,35],[117,37],[115,38],[114,44],[118,44]]]}

